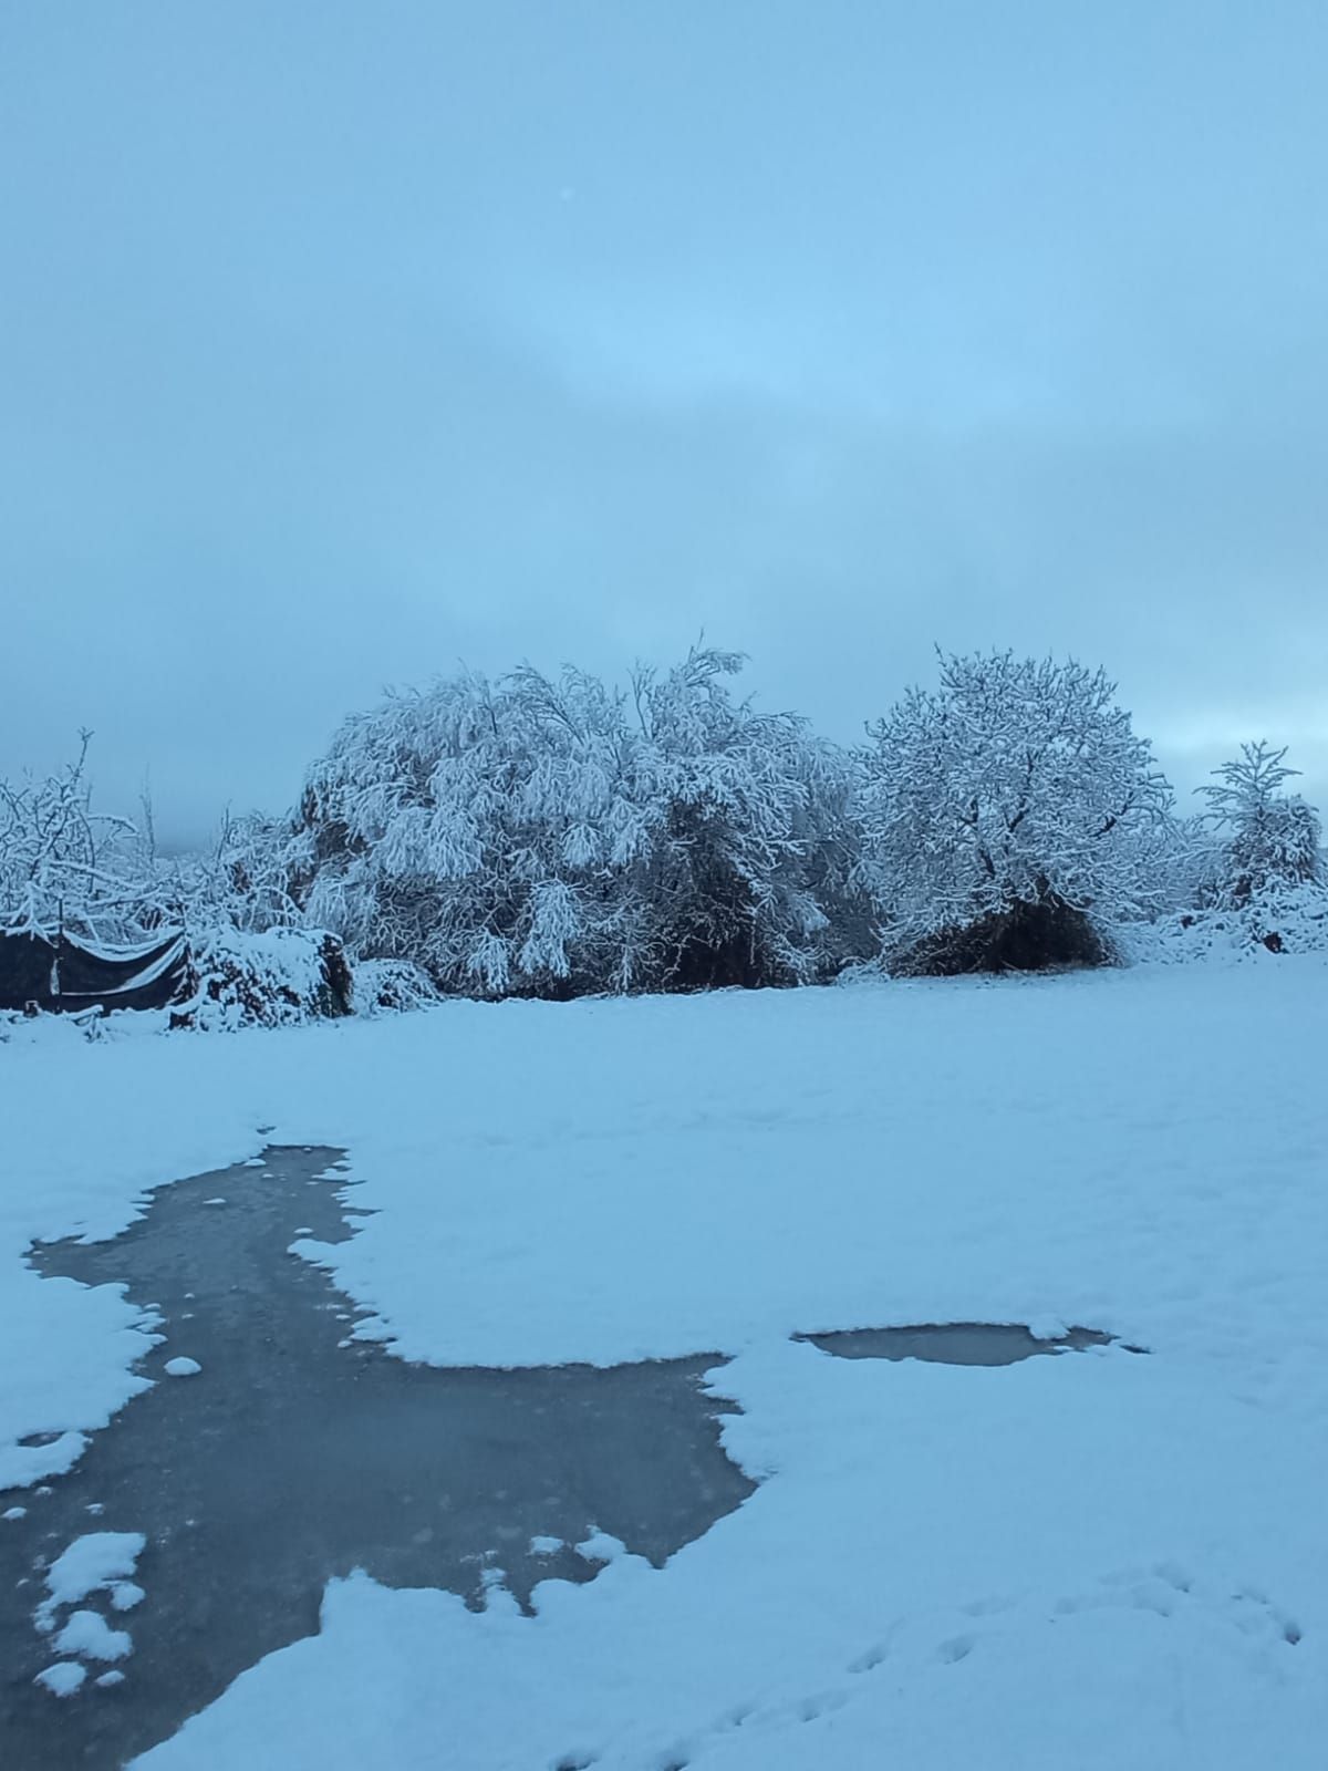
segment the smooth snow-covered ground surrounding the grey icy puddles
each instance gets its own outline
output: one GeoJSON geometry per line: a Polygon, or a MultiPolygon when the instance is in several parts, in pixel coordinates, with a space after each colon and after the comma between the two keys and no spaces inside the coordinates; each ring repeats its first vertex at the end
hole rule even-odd
{"type": "Polygon", "coordinates": [[[32,1273],[30,1238],[113,1234],[145,1187],[267,1141],[336,1144],[377,1215],[301,1249],[372,1307],[359,1334],[439,1364],[735,1355],[724,1442],[763,1481],[666,1569],[620,1555],[533,1619],[498,1585],[475,1615],[333,1583],[317,1638],[142,1766],[1317,1771],[1326,1034],[1321,958],[19,1029],[0,1484],[66,1466],[147,1348],[113,1289],[32,1273]],[[1151,1357],[790,1339],[954,1319],[1151,1357]]]}

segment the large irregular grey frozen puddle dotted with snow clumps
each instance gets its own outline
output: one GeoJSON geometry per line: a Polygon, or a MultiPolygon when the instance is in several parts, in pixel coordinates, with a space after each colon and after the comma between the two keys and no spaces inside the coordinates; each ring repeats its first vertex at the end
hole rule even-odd
{"type": "Polygon", "coordinates": [[[163,1381],[67,1475],[0,1495],[5,1771],[126,1764],[313,1635],[335,1574],[473,1605],[501,1580],[529,1603],[540,1580],[591,1580],[606,1534],[660,1564],[753,1493],[719,1443],[731,1404],[703,1390],[721,1355],[482,1371],[347,1342],[352,1303],[289,1254],[352,1234],[340,1155],[273,1148],[159,1188],[113,1241],[35,1249],[42,1275],[122,1282],[161,1319],[143,1371],[163,1381]],[[103,1532],[143,1534],[133,1582],[99,1569],[55,1615],[48,1571],[103,1532]]]}

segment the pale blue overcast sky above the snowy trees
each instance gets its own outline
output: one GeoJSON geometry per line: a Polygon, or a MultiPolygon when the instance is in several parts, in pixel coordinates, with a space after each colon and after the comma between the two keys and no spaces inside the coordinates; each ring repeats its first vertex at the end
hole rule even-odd
{"type": "Polygon", "coordinates": [[[459,662],[852,742],[1105,664],[1328,802],[1319,0],[0,7],[0,776],[166,843],[459,662]]]}

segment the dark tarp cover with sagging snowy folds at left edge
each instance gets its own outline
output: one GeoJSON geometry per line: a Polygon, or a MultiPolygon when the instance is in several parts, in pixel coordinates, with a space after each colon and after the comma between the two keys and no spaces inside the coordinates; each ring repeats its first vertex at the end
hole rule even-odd
{"type": "Polygon", "coordinates": [[[179,930],[135,947],[0,933],[0,1009],[166,1008],[184,985],[188,956],[179,930]]]}

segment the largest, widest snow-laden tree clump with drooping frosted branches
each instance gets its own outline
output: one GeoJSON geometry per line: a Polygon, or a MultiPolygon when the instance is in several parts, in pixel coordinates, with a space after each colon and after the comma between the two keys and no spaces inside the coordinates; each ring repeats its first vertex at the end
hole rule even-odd
{"type": "Polygon", "coordinates": [[[834,960],[845,760],[733,698],[735,653],[475,673],[354,715],[289,852],[306,914],[443,990],[503,997],[795,983],[834,960]]]}

